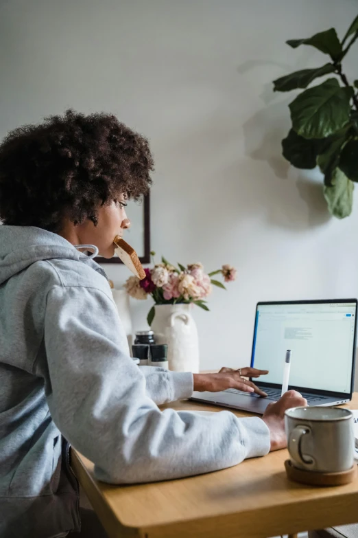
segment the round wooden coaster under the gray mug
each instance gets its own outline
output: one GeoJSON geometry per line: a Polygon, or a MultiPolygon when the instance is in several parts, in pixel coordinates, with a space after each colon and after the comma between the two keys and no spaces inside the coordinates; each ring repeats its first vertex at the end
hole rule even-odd
{"type": "Polygon", "coordinates": [[[354,464],[348,471],[339,473],[318,473],[317,471],[302,471],[297,469],[291,463],[291,460],[285,461],[285,469],[289,480],[300,482],[300,484],[309,484],[310,486],[343,486],[353,482],[357,475],[357,465],[354,464]]]}

